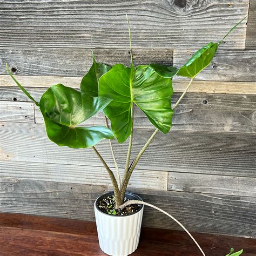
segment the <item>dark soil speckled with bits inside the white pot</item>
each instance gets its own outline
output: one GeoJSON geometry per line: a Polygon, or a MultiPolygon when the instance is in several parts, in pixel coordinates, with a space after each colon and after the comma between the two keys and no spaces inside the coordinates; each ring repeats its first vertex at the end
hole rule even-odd
{"type": "MultiPolygon", "coordinates": [[[[128,198],[124,198],[124,202],[129,201],[128,198]]],[[[116,210],[114,206],[116,205],[116,200],[113,196],[108,196],[106,198],[103,198],[102,200],[98,201],[97,206],[100,211],[110,214],[110,215],[117,215],[117,216],[124,216],[124,215],[130,215],[139,210],[140,205],[129,205],[125,207],[123,210],[116,210]]]]}

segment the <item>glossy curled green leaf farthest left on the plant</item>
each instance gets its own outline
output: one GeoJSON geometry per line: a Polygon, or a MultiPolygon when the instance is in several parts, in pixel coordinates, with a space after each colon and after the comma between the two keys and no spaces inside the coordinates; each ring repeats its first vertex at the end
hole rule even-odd
{"type": "Polygon", "coordinates": [[[62,84],[53,85],[39,103],[49,139],[59,146],[76,149],[94,146],[102,139],[113,139],[107,127],[77,126],[110,102],[111,99],[91,97],[62,84]]]}

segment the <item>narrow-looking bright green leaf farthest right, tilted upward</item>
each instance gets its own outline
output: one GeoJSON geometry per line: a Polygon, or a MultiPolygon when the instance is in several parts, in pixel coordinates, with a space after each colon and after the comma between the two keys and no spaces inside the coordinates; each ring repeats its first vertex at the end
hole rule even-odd
{"type": "Polygon", "coordinates": [[[177,75],[183,77],[196,77],[203,69],[210,65],[215,52],[218,49],[218,43],[208,43],[188,60],[188,62],[181,66],[177,75]]]}

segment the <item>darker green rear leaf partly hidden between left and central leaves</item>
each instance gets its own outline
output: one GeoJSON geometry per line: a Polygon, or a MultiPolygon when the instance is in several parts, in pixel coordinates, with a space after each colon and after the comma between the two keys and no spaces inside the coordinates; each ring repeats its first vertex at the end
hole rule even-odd
{"type": "MultiPolygon", "coordinates": [[[[92,55],[93,56],[93,55],[92,55]]],[[[93,63],[90,70],[84,75],[81,83],[80,90],[87,95],[97,97],[99,94],[98,81],[99,78],[111,69],[110,66],[97,63],[93,56],[93,63]]]]}

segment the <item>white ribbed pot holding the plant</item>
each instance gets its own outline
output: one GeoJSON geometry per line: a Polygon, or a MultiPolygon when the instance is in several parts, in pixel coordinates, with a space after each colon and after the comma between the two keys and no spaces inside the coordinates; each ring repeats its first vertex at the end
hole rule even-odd
{"type": "MultiPolygon", "coordinates": [[[[100,196],[94,204],[99,246],[109,255],[129,255],[137,249],[139,244],[144,206],[141,205],[139,211],[127,216],[115,216],[101,212],[97,207],[97,202],[112,194],[113,192],[109,192],[100,196]]],[[[142,200],[136,194],[128,192],[125,196],[129,199],[142,200]]]]}

